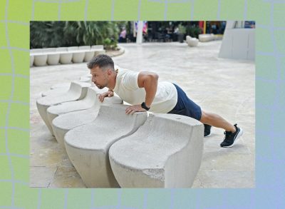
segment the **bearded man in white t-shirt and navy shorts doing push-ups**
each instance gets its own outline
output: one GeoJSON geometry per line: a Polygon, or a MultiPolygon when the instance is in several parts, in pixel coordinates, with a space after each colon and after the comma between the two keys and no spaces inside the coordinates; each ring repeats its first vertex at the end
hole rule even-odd
{"type": "Polygon", "coordinates": [[[242,136],[242,128],[232,125],[221,116],[206,113],[196,103],[186,96],[182,89],[170,82],[158,82],[156,73],[142,71],[140,73],[127,69],[114,69],[112,58],[98,55],[88,63],[92,82],[102,89],[108,87],[108,92],[99,96],[102,102],[106,96],[114,92],[133,106],[126,108],[125,113],[152,111],[153,113],[173,113],[195,118],[204,123],[204,136],[210,135],[211,126],[223,128],[224,141],[222,147],[232,147],[237,138],[242,136]]]}

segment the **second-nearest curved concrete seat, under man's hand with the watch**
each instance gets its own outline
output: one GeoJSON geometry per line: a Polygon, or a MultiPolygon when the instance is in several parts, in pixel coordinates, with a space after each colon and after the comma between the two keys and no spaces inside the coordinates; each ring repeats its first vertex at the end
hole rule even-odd
{"type": "Polygon", "coordinates": [[[126,107],[101,106],[95,121],[68,131],[64,137],[68,157],[88,188],[118,187],[108,150],[120,138],[134,133],[147,118],[146,112],[125,114],[126,107]]]}

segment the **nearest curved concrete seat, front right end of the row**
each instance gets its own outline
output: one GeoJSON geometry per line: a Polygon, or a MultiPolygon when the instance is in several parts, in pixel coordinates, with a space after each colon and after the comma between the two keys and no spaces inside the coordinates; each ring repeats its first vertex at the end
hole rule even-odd
{"type": "Polygon", "coordinates": [[[190,188],[202,159],[204,126],[154,114],[132,136],[113,144],[110,165],[121,188],[190,188]]]}

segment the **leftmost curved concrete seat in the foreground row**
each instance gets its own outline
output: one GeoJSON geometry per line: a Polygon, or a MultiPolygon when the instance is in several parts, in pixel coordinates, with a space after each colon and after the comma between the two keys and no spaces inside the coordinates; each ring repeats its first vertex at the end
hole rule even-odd
{"type": "Polygon", "coordinates": [[[63,103],[66,101],[76,101],[84,98],[86,96],[88,87],[90,87],[90,83],[84,83],[84,82],[71,82],[71,87],[69,88],[67,93],[63,93],[62,95],[56,95],[56,96],[45,96],[42,98],[39,98],[36,101],[36,107],[38,108],[38,113],[40,114],[43,121],[46,123],[46,126],[48,126],[49,131],[51,131],[51,134],[53,135],[53,130],[51,128],[51,124],[48,122],[48,116],[46,113],[46,110],[53,105],[56,105],[58,103],[63,103]]]}

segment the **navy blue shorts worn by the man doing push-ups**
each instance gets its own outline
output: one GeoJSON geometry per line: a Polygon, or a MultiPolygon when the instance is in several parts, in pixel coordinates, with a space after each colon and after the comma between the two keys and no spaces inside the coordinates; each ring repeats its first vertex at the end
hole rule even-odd
{"type": "Polygon", "coordinates": [[[201,108],[190,98],[188,98],[186,93],[179,86],[175,85],[174,83],[173,85],[177,90],[177,103],[172,111],[168,113],[188,116],[199,121],[202,117],[201,108]]]}

